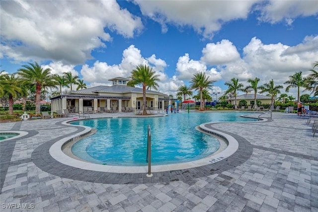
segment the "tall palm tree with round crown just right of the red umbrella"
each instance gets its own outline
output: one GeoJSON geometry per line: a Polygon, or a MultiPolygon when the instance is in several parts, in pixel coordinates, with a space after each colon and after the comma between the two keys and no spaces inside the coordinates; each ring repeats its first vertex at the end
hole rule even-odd
{"type": "Polygon", "coordinates": [[[204,89],[209,89],[213,86],[214,80],[209,80],[209,76],[207,76],[204,72],[198,72],[193,75],[191,78],[191,89],[198,90],[200,92],[200,108],[199,111],[204,111],[204,103],[202,97],[202,91],[204,89]]]}

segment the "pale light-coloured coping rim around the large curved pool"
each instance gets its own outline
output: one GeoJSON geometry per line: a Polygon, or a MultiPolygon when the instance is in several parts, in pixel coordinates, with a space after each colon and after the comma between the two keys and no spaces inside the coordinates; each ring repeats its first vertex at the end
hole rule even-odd
{"type": "MultiPolygon", "coordinates": [[[[245,115],[241,115],[243,117],[247,118],[254,118],[255,117],[248,117],[245,115]]],[[[111,117],[109,117],[111,118],[111,117]]],[[[121,118],[121,117],[116,117],[116,118],[121,118]]],[[[123,117],[123,118],[130,118],[130,117],[123,117]]],[[[146,117],[147,118],[147,117],[146,117]]],[[[94,118],[90,118],[94,119],[94,118]]],[[[68,120],[64,121],[61,124],[62,125],[67,125],[67,126],[72,126],[74,125],[69,124],[70,122],[73,122],[75,120],[68,120]]],[[[267,121],[265,118],[261,118],[261,121],[267,121]]],[[[223,123],[223,122],[214,122],[214,123],[223,123]]],[[[226,123],[226,122],[225,122],[226,123]]],[[[227,133],[220,132],[218,130],[212,130],[208,127],[206,127],[207,124],[213,124],[211,123],[203,123],[200,124],[198,127],[200,130],[203,132],[201,133],[206,133],[210,134],[211,136],[216,136],[221,139],[224,139],[228,146],[226,149],[224,149],[221,152],[218,152],[216,154],[211,154],[207,157],[201,158],[199,160],[194,160],[190,162],[184,162],[184,163],[174,163],[174,164],[165,164],[165,165],[152,165],[151,166],[151,171],[152,172],[165,172],[165,171],[175,171],[175,170],[181,170],[181,169],[190,169],[190,168],[196,168],[200,166],[205,166],[209,165],[218,161],[221,161],[223,159],[226,159],[233,155],[239,148],[239,142],[232,136],[230,136],[227,133]]],[[[147,166],[113,166],[113,165],[102,165],[102,164],[95,164],[91,162],[86,162],[86,161],[81,161],[78,159],[75,159],[66,153],[63,152],[63,148],[65,145],[71,141],[78,141],[80,140],[83,136],[88,135],[91,132],[90,127],[86,126],[81,126],[84,128],[83,131],[68,136],[66,138],[63,138],[57,142],[55,142],[50,148],[49,148],[49,153],[50,155],[57,160],[58,162],[72,166],[74,168],[79,168],[82,170],[88,170],[88,171],[99,171],[99,172],[110,172],[110,173],[127,173],[127,174],[134,174],[134,173],[147,173],[148,172],[148,165],[147,166]]]]}

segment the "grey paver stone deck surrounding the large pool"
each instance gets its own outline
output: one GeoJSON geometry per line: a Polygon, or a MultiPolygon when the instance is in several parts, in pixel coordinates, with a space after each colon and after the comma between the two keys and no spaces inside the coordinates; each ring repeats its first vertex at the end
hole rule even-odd
{"type": "MultiPolygon", "coordinates": [[[[130,116],[91,117],[112,115],[130,116]]],[[[28,132],[0,142],[1,212],[318,211],[318,136],[296,114],[274,112],[267,122],[207,124],[239,141],[238,151],[211,165],[156,172],[152,178],[57,162],[49,147],[83,130],[61,124],[68,119],[0,124],[1,131],[28,132]]]]}

